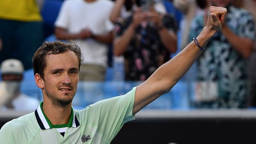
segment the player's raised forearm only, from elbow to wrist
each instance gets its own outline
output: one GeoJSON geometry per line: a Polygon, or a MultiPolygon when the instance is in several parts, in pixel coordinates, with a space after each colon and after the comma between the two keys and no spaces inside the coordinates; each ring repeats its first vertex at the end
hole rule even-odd
{"type": "MultiPolygon", "coordinates": [[[[209,39],[214,35],[214,32],[203,29],[202,33],[197,37],[201,47],[205,47],[209,39]]],[[[169,91],[174,84],[176,84],[182,76],[193,65],[202,50],[191,42],[185,49],[183,49],[177,56],[162,65],[156,72],[149,78],[154,79],[158,85],[158,90],[164,92],[169,91]]]]}

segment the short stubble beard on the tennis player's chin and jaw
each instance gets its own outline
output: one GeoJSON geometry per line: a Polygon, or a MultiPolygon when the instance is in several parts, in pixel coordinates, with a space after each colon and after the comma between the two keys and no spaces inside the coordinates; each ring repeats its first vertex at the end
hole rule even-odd
{"type": "Polygon", "coordinates": [[[65,94],[65,97],[62,98],[61,96],[58,96],[56,93],[48,92],[47,88],[45,87],[45,94],[48,98],[51,99],[52,105],[64,108],[72,102],[76,92],[71,98],[69,98],[68,94],[65,94]]]}

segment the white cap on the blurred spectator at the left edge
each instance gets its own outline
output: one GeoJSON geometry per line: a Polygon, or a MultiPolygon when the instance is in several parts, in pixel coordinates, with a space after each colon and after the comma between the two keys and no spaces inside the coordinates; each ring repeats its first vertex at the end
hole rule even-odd
{"type": "Polygon", "coordinates": [[[23,74],[24,67],[20,60],[17,59],[7,59],[1,64],[2,74],[23,74]]]}

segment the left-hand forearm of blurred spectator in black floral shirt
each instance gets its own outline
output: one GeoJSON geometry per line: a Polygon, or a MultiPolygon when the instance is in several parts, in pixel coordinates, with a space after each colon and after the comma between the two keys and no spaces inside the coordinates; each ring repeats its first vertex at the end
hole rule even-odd
{"type": "Polygon", "coordinates": [[[135,33],[135,26],[131,24],[125,30],[122,36],[119,36],[114,40],[114,54],[116,56],[120,56],[125,52],[127,46],[132,40],[134,33],[135,33]]]}

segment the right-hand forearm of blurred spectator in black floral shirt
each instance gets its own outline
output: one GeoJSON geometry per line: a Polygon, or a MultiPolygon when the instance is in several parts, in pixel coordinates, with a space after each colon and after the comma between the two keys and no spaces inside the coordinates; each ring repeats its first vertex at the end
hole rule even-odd
{"type": "Polygon", "coordinates": [[[177,51],[177,36],[173,31],[168,31],[166,28],[159,30],[161,42],[169,50],[174,53],[177,51]]]}

